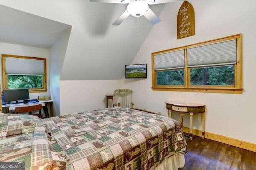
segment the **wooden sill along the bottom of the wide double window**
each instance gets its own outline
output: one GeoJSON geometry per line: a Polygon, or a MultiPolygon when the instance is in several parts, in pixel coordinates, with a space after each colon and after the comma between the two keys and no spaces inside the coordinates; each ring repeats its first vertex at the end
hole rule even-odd
{"type": "Polygon", "coordinates": [[[242,88],[212,88],[212,87],[152,87],[152,90],[159,91],[177,91],[177,92],[208,92],[208,93],[232,93],[232,94],[242,94],[242,88]]]}

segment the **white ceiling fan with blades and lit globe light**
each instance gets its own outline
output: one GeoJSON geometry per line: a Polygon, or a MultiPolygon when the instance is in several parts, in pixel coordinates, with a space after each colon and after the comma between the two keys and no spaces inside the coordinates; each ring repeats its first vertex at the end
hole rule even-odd
{"type": "Polygon", "coordinates": [[[145,16],[152,24],[156,24],[160,19],[154,14],[148,5],[163,4],[177,0],[90,0],[90,2],[105,2],[128,4],[126,11],[112,25],[120,25],[130,14],[134,17],[145,16]]]}

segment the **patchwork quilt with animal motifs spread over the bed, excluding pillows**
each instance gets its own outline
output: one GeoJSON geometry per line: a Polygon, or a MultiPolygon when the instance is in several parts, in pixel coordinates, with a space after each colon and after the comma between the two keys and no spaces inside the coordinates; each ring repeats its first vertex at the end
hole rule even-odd
{"type": "Polygon", "coordinates": [[[162,115],[114,107],[43,121],[70,170],[148,170],[187,152],[179,123],[162,115]]]}

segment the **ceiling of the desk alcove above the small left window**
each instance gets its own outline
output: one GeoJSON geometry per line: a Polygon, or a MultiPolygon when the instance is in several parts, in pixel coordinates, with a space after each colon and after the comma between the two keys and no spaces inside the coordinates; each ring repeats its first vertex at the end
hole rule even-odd
{"type": "Polygon", "coordinates": [[[50,48],[70,25],[0,5],[0,42],[50,48]]]}

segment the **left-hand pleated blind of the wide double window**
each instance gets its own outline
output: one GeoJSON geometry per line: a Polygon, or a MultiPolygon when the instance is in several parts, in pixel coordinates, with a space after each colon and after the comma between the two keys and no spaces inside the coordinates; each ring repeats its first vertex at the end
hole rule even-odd
{"type": "Polygon", "coordinates": [[[154,70],[166,70],[185,67],[185,50],[171,51],[154,55],[154,70]]]}

